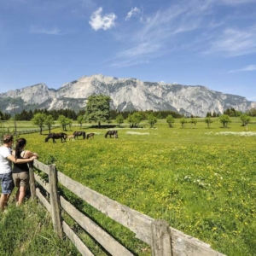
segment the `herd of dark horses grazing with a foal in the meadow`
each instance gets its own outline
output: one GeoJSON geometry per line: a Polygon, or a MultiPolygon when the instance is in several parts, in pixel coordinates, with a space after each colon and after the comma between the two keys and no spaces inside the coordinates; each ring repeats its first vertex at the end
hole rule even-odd
{"type": "MultiPolygon", "coordinates": [[[[49,141],[49,139],[52,139],[52,142],[55,143],[55,139],[61,139],[61,143],[64,141],[66,142],[66,140],[70,140],[72,139],[73,141],[75,139],[78,139],[79,136],[82,136],[83,139],[87,138],[87,139],[93,139],[94,138],[94,133],[90,132],[86,133],[85,131],[74,131],[73,134],[71,135],[67,135],[67,133],[64,132],[59,132],[59,133],[49,133],[49,135],[45,138],[45,143],[47,143],[49,141]]],[[[105,134],[105,137],[114,137],[114,138],[118,138],[118,131],[107,131],[105,134]]]]}

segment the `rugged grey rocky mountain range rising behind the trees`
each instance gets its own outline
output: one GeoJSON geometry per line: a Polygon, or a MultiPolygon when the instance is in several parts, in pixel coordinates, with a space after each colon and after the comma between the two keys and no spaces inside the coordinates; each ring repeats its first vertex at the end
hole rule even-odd
{"type": "Polygon", "coordinates": [[[92,94],[103,94],[112,99],[111,108],[128,110],[172,110],[185,115],[205,117],[208,112],[223,113],[227,108],[246,112],[256,108],[256,102],[245,97],[223,94],[205,86],[143,82],[138,79],[117,79],[102,74],[82,77],[63,84],[60,89],[49,89],[46,84],[35,84],[23,89],[0,94],[2,112],[22,109],[84,109],[92,94]]]}

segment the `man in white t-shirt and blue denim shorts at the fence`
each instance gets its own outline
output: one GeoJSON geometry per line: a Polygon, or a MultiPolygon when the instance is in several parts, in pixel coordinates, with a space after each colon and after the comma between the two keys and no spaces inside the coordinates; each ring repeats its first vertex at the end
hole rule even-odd
{"type": "Polygon", "coordinates": [[[3,145],[0,147],[0,180],[2,186],[2,194],[0,197],[0,212],[3,212],[4,208],[7,207],[9,195],[13,189],[11,162],[14,162],[15,164],[23,164],[37,158],[36,156],[32,156],[30,159],[15,159],[11,150],[13,143],[14,137],[12,135],[7,134],[3,136],[3,145]]]}

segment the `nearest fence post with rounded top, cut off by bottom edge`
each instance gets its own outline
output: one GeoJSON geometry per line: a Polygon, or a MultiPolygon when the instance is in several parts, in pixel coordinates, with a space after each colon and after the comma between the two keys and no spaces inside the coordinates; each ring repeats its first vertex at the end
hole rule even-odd
{"type": "Polygon", "coordinates": [[[172,256],[171,229],[164,220],[155,219],[151,223],[152,256],[172,256]]]}

